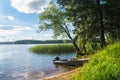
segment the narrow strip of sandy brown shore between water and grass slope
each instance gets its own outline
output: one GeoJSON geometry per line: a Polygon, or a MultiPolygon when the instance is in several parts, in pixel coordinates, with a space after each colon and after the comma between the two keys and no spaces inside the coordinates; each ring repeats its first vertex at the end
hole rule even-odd
{"type": "Polygon", "coordinates": [[[63,73],[58,73],[58,74],[54,74],[39,80],[69,80],[69,76],[72,76],[73,74],[75,74],[78,70],[80,70],[80,68],[76,68],[67,72],[63,72],[63,73]]]}

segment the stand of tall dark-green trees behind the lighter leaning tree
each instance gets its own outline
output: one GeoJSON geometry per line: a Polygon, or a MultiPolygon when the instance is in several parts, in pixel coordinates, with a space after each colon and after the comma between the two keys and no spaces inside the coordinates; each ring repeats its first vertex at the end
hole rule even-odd
{"type": "Polygon", "coordinates": [[[84,51],[88,42],[96,44],[97,40],[103,49],[106,40],[120,40],[120,0],[57,0],[57,3],[77,27],[75,34],[79,34],[84,51]]]}

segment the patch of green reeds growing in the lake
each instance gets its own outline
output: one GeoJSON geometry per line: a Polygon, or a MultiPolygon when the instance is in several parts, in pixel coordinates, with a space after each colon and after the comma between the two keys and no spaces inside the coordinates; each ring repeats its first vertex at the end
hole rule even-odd
{"type": "Polygon", "coordinates": [[[68,53],[75,52],[72,44],[47,44],[37,45],[30,48],[34,53],[68,53]]]}

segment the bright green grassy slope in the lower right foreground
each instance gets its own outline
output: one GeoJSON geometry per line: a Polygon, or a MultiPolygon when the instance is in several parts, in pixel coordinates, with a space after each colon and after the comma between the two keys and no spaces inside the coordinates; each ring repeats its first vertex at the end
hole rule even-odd
{"type": "Polygon", "coordinates": [[[120,42],[92,56],[71,80],[120,80],[120,42]]]}

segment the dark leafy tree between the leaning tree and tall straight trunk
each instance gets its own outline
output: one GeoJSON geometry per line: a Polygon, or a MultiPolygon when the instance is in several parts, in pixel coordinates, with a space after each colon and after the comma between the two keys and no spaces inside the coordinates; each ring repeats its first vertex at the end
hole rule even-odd
{"type": "Polygon", "coordinates": [[[57,0],[57,2],[66,10],[67,18],[73,21],[76,28],[75,34],[79,34],[78,44],[82,51],[86,52],[86,48],[88,48],[87,44],[96,44],[96,38],[100,36],[100,23],[96,1],[57,0]]]}

